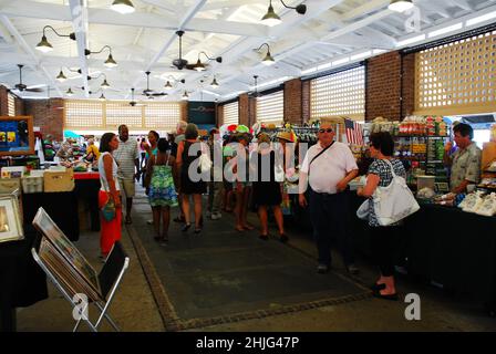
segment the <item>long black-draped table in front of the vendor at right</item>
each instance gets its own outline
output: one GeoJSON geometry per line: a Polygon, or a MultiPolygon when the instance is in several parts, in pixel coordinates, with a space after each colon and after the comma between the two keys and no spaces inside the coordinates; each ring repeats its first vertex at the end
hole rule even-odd
{"type": "MultiPolygon", "coordinates": [[[[364,200],[354,196],[350,214],[364,200]]],[[[351,225],[355,249],[371,254],[366,221],[354,216],[351,225]]],[[[496,217],[464,212],[458,208],[421,205],[410,216],[396,242],[396,264],[409,274],[469,295],[487,309],[496,309],[496,217]]]]}

